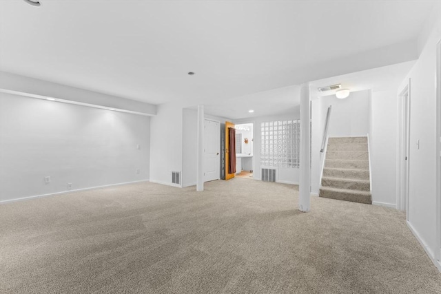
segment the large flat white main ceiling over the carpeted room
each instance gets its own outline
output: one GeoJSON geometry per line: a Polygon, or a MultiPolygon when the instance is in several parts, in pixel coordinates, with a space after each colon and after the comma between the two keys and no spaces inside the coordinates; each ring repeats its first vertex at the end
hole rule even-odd
{"type": "Polygon", "coordinates": [[[415,59],[400,44],[435,2],[1,0],[0,70],[154,104],[248,97],[257,116],[300,82],[415,59]]]}

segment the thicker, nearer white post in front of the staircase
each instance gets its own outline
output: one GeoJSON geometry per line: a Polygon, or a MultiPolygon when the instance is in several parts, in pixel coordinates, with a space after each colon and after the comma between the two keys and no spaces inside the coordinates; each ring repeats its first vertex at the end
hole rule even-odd
{"type": "Polygon", "coordinates": [[[300,181],[298,187],[298,210],[308,212],[311,208],[311,103],[309,83],[300,85],[300,181]]]}

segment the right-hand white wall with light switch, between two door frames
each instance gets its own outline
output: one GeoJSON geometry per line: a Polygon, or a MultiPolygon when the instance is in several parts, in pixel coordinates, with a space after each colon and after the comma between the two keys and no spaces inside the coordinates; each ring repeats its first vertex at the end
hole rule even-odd
{"type": "Polygon", "coordinates": [[[441,39],[440,3],[438,16],[424,32],[420,58],[412,68],[398,93],[411,79],[411,122],[409,153],[409,225],[418,235],[429,256],[436,249],[435,220],[435,140],[436,140],[436,45],[441,39]],[[416,141],[420,140],[420,148],[416,141]]]}

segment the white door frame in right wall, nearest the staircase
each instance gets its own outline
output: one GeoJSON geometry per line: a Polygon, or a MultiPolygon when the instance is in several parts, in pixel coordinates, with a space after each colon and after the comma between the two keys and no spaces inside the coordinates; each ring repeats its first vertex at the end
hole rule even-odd
{"type": "Polygon", "coordinates": [[[409,220],[409,174],[410,174],[410,121],[411,79],[398,94],[398,152],[397,152],[397,209],[406,211],[409,220]],[[407,118],[407,119],[406,119],[407,118]],[[404,132],[407,130],[407,134],[404,132]],[[405,141],[405,139],[407,140],[405,141]],[[406,149],[407,147],[407,154],[406,149]],[[407,156],[407,160],[403,159],[407,156]],[[407,174],[405,171],[407,169],[407,174]]]}

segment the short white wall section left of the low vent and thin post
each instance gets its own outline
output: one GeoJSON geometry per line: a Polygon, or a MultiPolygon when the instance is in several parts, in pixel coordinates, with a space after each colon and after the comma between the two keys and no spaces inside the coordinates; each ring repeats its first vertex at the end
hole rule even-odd
{"type": "Polygon", "coordinates": [[[150,124],[150,181],[174,185],[172,171],[182,175],[182,158],[183,108],[172,103],[158,105],[150,124]]]}

